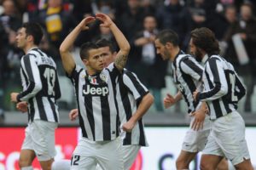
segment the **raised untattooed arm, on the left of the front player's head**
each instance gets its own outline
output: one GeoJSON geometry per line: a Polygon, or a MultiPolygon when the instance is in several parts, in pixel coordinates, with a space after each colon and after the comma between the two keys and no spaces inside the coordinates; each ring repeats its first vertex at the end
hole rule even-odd
{"type": "Polygon", "coordinates": [[[70,53],[70,48],[73,46],[73,42],[79,36],[80,31],[88,30],[89,27],[87,25],[94,20],[96,19],[91,16],[84,18],[84,20],[82,20],[79,25],[76,26],[61,43],[60,54],[62,65],[68,76],[71,75],[73,68],[75,67],[75,61],[72,54],[70,53]]]}

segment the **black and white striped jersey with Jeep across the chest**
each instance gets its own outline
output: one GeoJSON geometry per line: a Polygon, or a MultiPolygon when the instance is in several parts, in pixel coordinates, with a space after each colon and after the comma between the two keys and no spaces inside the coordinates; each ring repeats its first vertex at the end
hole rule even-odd
{"type": "Polygon", "coordinates": [[[119,136],[119,115],[115,99],[119,70],[112,64],[89,76],[79,65],[71,80],[76,92],[79,124],[84,138],[93,141],[113,140],[119,136]]]}

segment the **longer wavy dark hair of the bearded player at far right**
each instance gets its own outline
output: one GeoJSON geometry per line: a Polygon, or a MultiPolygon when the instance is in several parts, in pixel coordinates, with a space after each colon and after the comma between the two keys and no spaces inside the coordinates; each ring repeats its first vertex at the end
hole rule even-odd
{"type": "Polygon", "coordinates": [[[191,31],[191,38],[197,48],[201,48],[207,54],[219,54],[218,40],[214,33],[206,27],[196,28],[191,31]]]}

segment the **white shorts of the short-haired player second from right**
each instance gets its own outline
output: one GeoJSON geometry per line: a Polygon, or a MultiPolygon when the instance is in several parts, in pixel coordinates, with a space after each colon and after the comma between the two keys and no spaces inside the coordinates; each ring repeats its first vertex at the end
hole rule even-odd
{"type": "Polygon", "coordinates": [[[192,116],[189,126],[190,128],[183,139],[182,146],[182,150],[193,153],[199,152],[205,148],[207,144],[207,138],[211,130],[210,116],[206,116],[203,128],[198,131],[195,131],[191,128],[194,120],[195,116],[192,116]]]}

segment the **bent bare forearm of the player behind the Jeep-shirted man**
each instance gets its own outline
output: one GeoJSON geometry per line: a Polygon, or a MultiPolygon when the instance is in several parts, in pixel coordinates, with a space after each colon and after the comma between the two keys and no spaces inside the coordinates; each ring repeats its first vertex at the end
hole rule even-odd
{"type": "Polygon", "coordinates": [[[128,122],[125,122],[123,125],[123,130],[126,132],[131,132],[135,124],[143,117],[143,115],[148,111],[149,107],[153,104],[154,97],[152,94],[146,94],[143,97],[140,105],[137,108],[137,111],[131,116],[128,122]]]}

